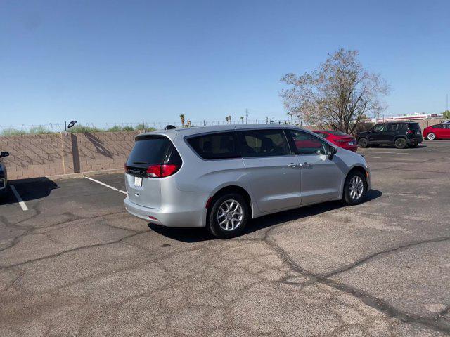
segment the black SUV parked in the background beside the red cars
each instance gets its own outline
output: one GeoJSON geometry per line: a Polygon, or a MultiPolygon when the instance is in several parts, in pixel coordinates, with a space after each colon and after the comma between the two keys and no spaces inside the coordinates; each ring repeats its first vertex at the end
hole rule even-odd
{"type": "Polygon", "coordinates": [[[404,149],[423,142],[419,124],[411,121],[376,124],[368,131],[359,132],[356,138],[359,147],[395,145],[397,149],[404,149]]]}

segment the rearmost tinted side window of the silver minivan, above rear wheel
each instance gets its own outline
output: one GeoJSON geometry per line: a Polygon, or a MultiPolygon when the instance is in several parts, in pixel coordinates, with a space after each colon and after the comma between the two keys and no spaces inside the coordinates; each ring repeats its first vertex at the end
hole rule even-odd
{"type": "Polygon", "coordinates": [[[236,132],[207,133],[186,140],[203,159],[240,158],[236,132]]]}

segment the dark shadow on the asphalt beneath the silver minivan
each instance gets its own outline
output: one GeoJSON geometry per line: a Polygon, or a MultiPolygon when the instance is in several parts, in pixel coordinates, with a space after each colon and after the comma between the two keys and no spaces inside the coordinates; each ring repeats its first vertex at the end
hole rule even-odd
{"type": "MultiPolygon", "coordinates": [[[[365,202],[378,199],[382,195],[383,192],[379,190],[370,190],[368,191],[367,200],[365,202]]],[[[346,205],[342,201],[328,201],[323,204],[304,206],[298,209],[291,209],[290,211],[282,211],[279,213],[270,214],[269,216],[262,216],[261,218],[250,220],[250,223],[248,223],[248,226],[245,228],[242,235],[250,234],[252,232],[256,232],[257,230],[263,230],[264,228],[278,225],[280,223],[305,218],[307,216],[316,216],[317,214],[333,211],[345,206],[346,205]]],[[[148,223],[148,227],[158,234],[181,242],[192,243],[217,239],[207,232],[205,228],[174,228],[155,225],[153,223],[148,223]]]]}

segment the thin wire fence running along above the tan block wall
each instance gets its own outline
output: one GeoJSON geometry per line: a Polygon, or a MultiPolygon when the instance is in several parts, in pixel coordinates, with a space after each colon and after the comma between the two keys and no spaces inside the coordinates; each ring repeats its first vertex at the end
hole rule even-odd
{"type": "Polygon", "coordinates": [[[153,131],[162,130],[167,125],[176,128],[193,126],[218,126],[226,124],[297,124],[291,120],[280,119],[238,119],[229,121],[191,121],[187,119],[184,124],[181,121],[136,121],[121,123],[86,123],[77,121],[73,126],[70,121],[46,124],[22,124],[6,125],[0,124],[0,136],[17,136],[23,134],[37,133],[59,133],[59,132],[101,132],[101,131],[153,131]]]}

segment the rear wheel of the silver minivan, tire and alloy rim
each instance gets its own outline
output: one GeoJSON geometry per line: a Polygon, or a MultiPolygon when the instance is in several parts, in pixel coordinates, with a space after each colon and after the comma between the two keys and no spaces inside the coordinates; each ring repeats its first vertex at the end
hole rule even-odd
{"type": "Polygon", "coordinates": [[[207,230],[214,237],[230,239],[243,232],[250,217],[250,207],[241,194],[227,193],[214,200],[207,230]]]}

